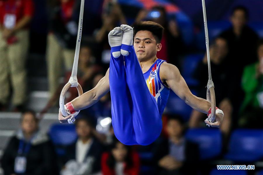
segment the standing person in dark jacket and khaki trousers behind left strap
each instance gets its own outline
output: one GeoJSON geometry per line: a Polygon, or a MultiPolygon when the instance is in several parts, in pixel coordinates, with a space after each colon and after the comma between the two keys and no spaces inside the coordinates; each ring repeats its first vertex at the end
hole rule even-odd
{"type": "Polygon", "coordinates": [[[71,71],[75,55],[78,15],[75,0],[60,0],[49,5],[50,29],[47,38],[47,71],[52,97],[59,88],[62,64],[71,71]]]}

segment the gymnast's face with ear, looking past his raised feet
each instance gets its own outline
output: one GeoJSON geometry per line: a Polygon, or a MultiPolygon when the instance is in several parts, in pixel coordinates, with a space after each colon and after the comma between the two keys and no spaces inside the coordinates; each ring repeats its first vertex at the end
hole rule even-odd
{"type": "Polygon", "coordinates": [[[134,36],[134,50],[139,61],[147,61],[156,57],[162,45],[156,42],[152,32],[141,30],[134,36]]]}

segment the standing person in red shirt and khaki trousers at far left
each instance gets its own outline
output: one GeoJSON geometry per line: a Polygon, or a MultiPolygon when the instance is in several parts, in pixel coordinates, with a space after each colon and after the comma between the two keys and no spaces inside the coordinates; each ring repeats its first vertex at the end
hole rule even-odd
{"type": "Polygon", "coordinates": [[[33,11],[32,0],[0,1],[0,110],[5,110],[11,88],[15,110],[23,109],[27,88],[25,61],[33,11]]]}

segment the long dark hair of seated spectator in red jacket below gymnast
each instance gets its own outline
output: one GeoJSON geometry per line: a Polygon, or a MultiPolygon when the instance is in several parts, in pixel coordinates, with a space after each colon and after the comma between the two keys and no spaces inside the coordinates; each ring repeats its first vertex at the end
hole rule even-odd
{"type": "MultiPolygon", "coordinates": [[[[113,138],[113,143],[108,146],[110,156],[108,157],[106,163],[111,169],[115,169],[116,160],[113,157],[112,150],[116,148],[117,143],[121,143],[116,137],[113,138]]],[[[124,145],[124,144],[123,144],[124,145]]],[[[127,149],[127,155],[124,159],[124,162],[126,163],[127,167],[133,166],[132,156],[131,156],[131,146],[124,145],[124,147],[127,149]]]]}

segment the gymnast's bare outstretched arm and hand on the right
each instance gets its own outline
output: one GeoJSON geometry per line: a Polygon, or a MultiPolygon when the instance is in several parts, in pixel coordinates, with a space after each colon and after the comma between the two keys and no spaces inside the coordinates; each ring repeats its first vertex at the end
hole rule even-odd
{"type": "MultiPolygon", "coordinates": [[[[186,102],[193,109],[208,113],[211,103],[206,99],[196,97],[189,90],[184,78],[181,76],[178,68],[172,64],[163,63],[160,66],[160,78],[169,88],[171,88],[178,97],[186,102]]],[[[212,127],[219,127],[222,123],[223,115],[216,113],[216,122],[210,124],[212,127]]]]}

